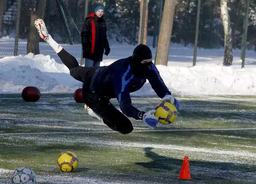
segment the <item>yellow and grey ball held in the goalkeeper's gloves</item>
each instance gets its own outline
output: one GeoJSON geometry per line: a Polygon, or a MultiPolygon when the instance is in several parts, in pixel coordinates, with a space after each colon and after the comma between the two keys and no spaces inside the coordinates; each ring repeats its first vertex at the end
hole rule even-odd
{"type": "Polygon", "coordinates": [[[169,125],[176,120],[178,111],[175,105],[169,102],[161,102],[156,106],[155,116],[159,118],[159,123],[169,125]]]}

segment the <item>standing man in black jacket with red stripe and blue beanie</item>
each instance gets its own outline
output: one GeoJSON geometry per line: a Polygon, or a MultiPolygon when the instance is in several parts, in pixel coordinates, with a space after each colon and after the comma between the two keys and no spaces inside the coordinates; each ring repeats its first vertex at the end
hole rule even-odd
{"type": "Polygon", "coordinates": [[[104,49],[105,55],[110,53],[103,14],[104,7],[97,6],[84,20],[81,38],[85,66],[100,66],[104,49]]]}

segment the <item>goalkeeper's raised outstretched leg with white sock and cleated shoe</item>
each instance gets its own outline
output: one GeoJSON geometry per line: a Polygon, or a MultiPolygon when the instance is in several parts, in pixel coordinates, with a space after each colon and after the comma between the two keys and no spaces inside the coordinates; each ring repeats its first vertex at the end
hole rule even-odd
{"type": "Polygon", "coordinates": [[[82,67],[78,64],[76,58],[68,53],[66,50],[62,48],[57,42],[55,42],[48,34],[48,31],[46,29],[46,25],[44,21],[40,18],[36,19],[34,24],[38,30],[39,36],[48,43],[54,51],[58,54],[61,61],[68,67],[70,71],[70,75],[74,77],[76,80],[81,82],[87,82],[90,80],[90,77],[94,73],[94,71],[97,69],[96,67],[82,67]]]}

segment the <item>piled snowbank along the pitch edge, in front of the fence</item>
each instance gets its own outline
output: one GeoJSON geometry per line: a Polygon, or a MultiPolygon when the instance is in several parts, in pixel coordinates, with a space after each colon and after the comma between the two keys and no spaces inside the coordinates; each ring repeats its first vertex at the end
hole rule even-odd
{"type": "MultiPolygon", "coordinates": [[[[171,61],[169,61],[171,62],[171,61]]],[[[101,65],[108,65],[103,61],[101,65]]],[[[256,67],[237,69],[217,64],[194,67],[157,65],[175,95],[255,95],[256,67]]],[[[64,64],[50,55],[10,56],[0,59],[0,93],[20,93],[36,86],[42,93],[73,93],[82,86],[64,64]]],[[[155,95],[149,83],[132,95],[155,95]]]]}

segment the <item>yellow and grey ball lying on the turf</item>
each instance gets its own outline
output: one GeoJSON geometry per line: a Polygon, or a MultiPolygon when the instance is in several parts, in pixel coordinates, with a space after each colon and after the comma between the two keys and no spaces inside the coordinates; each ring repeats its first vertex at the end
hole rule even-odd
{"type": "Polygon", "coordinates": [[[76,154],[70,151],[62,152],[57,160],[58,168],[63,172],[72,172],[77,168],[78,162],[76,154]]]}

